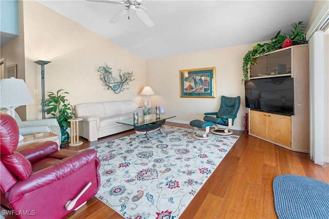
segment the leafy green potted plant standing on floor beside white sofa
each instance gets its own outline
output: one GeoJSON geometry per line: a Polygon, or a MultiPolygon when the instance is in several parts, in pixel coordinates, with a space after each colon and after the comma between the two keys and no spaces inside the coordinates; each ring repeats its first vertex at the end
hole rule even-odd
{"type": "Polygon", "coordinates": [[[73,106],[66,99],[64,89],[57,90],[57,93],[48,92],[48,99],[46,100],[46,114],[52,115],[52,118],[56,118],[60,128],[62,139],[61,143],[67,142],[69,139],[69,133],[66,131],[70,127],[68,119],[72,119],[76,116],[73,106]]]}

